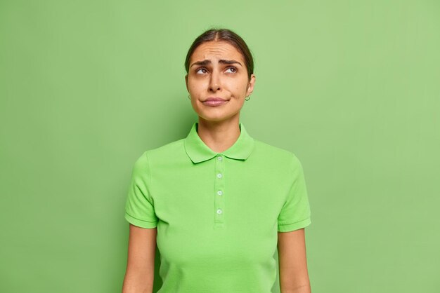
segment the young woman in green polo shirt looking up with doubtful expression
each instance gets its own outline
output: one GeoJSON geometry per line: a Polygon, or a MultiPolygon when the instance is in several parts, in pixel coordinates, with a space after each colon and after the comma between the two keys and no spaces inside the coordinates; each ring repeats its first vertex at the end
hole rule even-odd
{"type": "Polygon", "coordinates": [[[311,292],[304,227],[311,224],[302,165],[252,138],[240,109],[254,90],[254,63],[240,36],[209,29],[188,50],[188,97],[198,114],[188,136],[134,164],[122,292],[311,292]]]}

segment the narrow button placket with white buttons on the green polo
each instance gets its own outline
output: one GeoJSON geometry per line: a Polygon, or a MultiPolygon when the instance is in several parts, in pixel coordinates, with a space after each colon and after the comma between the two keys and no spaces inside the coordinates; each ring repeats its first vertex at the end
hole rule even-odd
{"type": "Polygon", "coordinates": [[[224,186],[225,186],[225,157],[218,154],[215,160],[214,170],[214,222],[216,224],[224,223],[224,186]]]}

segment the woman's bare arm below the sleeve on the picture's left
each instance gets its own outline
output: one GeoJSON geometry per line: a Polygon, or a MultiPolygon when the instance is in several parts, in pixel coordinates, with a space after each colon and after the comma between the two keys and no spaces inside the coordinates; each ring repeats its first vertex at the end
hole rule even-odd
{"type": "Polygon", "coordinates": [[[127,271],[122,293],[151,293],[155,273],[157,228],[130,224],[127,271]]]}

